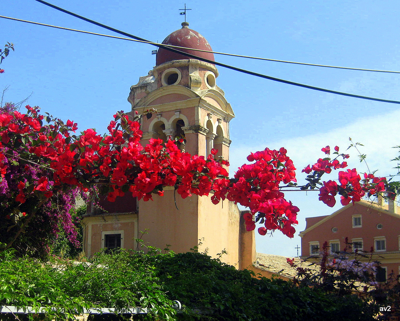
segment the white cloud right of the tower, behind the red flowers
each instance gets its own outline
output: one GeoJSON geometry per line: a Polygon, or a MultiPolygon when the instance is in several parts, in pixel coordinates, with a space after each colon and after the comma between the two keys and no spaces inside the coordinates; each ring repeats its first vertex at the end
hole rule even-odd
{"type": "MultiPolygon", "coordinates": [[[[304,182],[304,173],[301,170],[308,164],[314,164],[316,160],[323,157],[321,148],[330,145],[340,147],[340,152],[345,152],[349,146],[349,137],[353,142],[360,142],[364,146],[359,146],[360,152],[367,155],[367,163],[371,171],[378,169],[377,175],[385,176],[394,174],[392,167],[396,166],[390,159],[398,155],[398,150],[392,148],[400,145],[400,109],[387,114],[378,116],[367,116],[358,118],[354,122],[349,122],[344,126],[326,133],[296,137],[282,140],[264,140],[260,138],[258,142],[248,142],[248,144],[230,148],[230,173],[231,176],[235,169],[247,162],[246,156],[250,152],[264,150],[265,147],[278,149],[285,147],[288,150],[288,156],[294,161],[297,168],[296,174],[298,183],[304,182]]],[[[366,165],[358,160],[358,152],[354,148],[348,150],[350,158],[347,160],[349,168],[357,168],[358,172],[367,172],[366,165]]],[[[329,175],[325,180],[337,178],[337,173],[329,175]],[[335,177],[336,175],[336,177],[335,177]]],[[[305,228],[305,218],[321,215],[329,215],[340,208],[340,203],[333,209],[327,207],[318,201],[317,192],[288,192],[286,199],[291,200],[294,205],[300,208],[298,215],[299,225],[296,231],[303,231],[305,228]]],[[[257,234],[257,233],[256,233],[257,234]]],[[[297,233],[298,234],[298,233],[297,233]]],[[[274,233],[274,237],[256,236],[257,251],[284,256],[295,256],[296,245],[300,246],[300,237],[296,236],[290,240],[282,233],[274,233]]],[[[300,252],[299,252],[300,254],[300,252]]]]}

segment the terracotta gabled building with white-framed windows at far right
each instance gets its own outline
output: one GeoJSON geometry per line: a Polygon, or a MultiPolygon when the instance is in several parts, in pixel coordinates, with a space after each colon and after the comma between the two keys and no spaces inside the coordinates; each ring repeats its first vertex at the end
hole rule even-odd
{"type": "MultiPolygon", "coordinates": [[[[346,248],[350,253],[370,252],[379,261],[377,281],[386,281],[390,273],[400,274],[400,213],[393,201],[384,204],[360,201],[346,205],[331,215],[306,218],[306,229],[300,232],[302,259],[318,257],[324,242],[332,255],[346,248]]],[[[351,254],[350,254],[351,257],[351,254]]],[[[361,258],[360,261],[368,261],[361,258]]]]}

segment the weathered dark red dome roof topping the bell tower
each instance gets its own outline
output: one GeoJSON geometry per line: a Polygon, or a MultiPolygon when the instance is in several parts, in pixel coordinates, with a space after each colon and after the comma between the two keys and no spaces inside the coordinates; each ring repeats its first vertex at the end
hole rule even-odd
{"type": "MultiPolygon", "coordinates": [[[[204,38],[197,31],[189,29],[188,26],[189,24],[187,22],[182,22],[182,28],[172,32],[172,34],[170,34],[164,39],[162,44],[170,44],[172,46],[180,46],[186,48],[195,48],[195,49],[212,51],[211,46],[210,44],[208,44],[206,38],[204,38]]],[[[176,49],[187,52],[189,54],[194,54],[196,56],[208,60],[215,61],[214,54],[211,52],[202,52],[202,51],[181,49],[181,48],[176,48],[176,49]]],[[[175,52],[166,50],[164,48],[159,48],[156,55],[156,66],[163,64],[164,62],[167,61],[182,60],[182,59],[191,59],[191,58],[188,56],[184,56],[182,54],[177,54],[175,52]]]]}

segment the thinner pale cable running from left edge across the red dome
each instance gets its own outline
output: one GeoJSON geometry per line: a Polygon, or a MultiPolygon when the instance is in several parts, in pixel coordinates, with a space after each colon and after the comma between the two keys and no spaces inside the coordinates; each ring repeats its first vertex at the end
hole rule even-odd
{"type": "MultiPolygon", "coordinates": [[[[102,37],[115,38],[115,39],[121,39],[121,40],[129,40],[129,41],[140,42],[140,43],[151,44],[151,45],[157,45],[158,44],[156,42],[151,42],[151,41],[142,41],[142,40],[136,40],[136,39],[132,39],[132,38],[123,38],[123,37],[117,37],[117,36],[110,36],[108,34],[99,34],[99,33],[96,33],[96,32],[90,32],[90,31],[84,31],[84,30],[78,30],[78,29],[54,26],[52,24],[44,24],[44,23],[40,23],[40,22],[22,20],[22,19],[11,18],[11,17],[6,17],[6,16],[0,16],[0,18],[9,19],[9,20],[15,20],[15,21],[19,21],[19,22],[26,22],[26,23],[30,23],[30,24],[36,24],[36,25],[39,25],[39,26],[46,26],[46,27],[51,27],[51,28],[56,28],[56,29],[81,32],[81,33],[84,33],[84,34],[93,34],[95,36],[102,36],[102,37]]],[[[175,48],[175,49],[187,49],[187,47],[174,46],[172,44],[164,44],[164,46],[168,46],[170,48],[175,48]]],[[[266,61],[274,61],[274,62],[284,62],[284,63],[287,63],[287,64],[299,64],[299,65],[305,65],[305,66],[316,66],[316,67],[337,68],[337,69],[347,69],[347,70],[360,70],[360,71],[372,71],[372,72],[388,72],[388,73],[393,73],[393,74],[400,74],[400,71],[392,71],[392,70],[377,70],[377,69],[352,68],[352,67],[342,67],[342,66],[330,66],[330,65],[322,65],[322,64],[309,64],[309,63],[306,63],[306,62],[295,62],[295,61],[278,60],[278,59],[271,59],[271,58],[244,56],[244,55],[240,55],[240,54],[228,54],[226,52],[210,51],[210,50],[195,49],[195,48],[190,48],[190,50],[200,51],[200,52],[209,52],[211,54],[220,54],[220,55],[231,56],[231,57],[249,58],[249,59],[266,60],[266,61]]]]}

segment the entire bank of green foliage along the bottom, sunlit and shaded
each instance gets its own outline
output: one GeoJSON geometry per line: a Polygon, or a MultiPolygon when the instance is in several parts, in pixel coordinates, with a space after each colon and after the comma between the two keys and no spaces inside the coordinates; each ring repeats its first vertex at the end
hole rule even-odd
{"type": "Polygon", "coordinates": [[[356,295],[337,296],[281,279],[255,278],[251,271],[238,271],[196,251],[150,250],[98,253],[90,262],[51,264],[2,252],[0,305],[62,307],[62,313],[48,311],[48,318],[56,320],[71,318],[84,307],[147,307],[150,314],[134,316],[147,320],[372,319],[368,303],[356,295]],[[183,313],[176,313],[173,300],[182,303],[183,313]]]}

